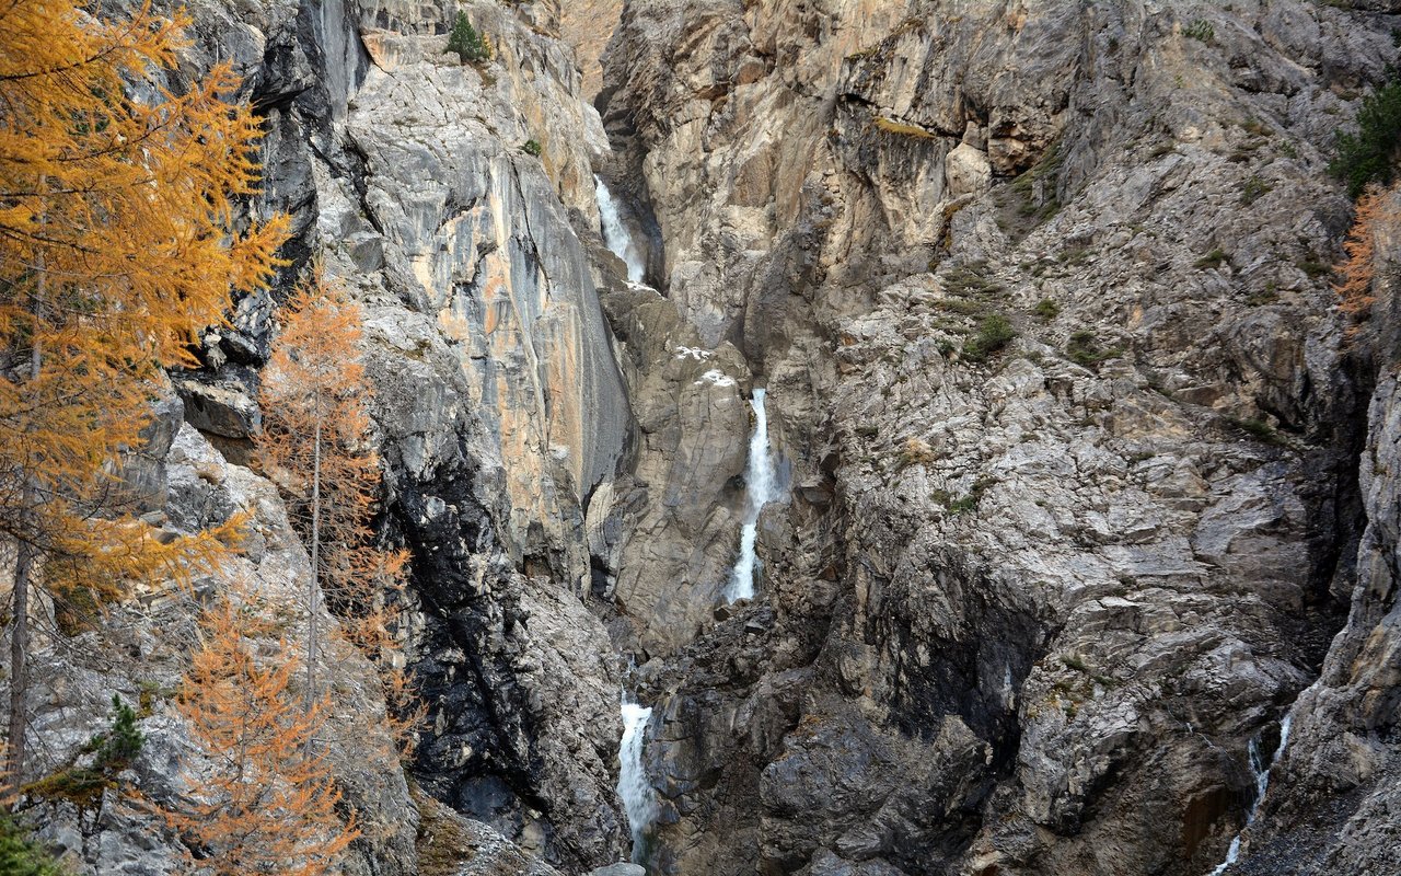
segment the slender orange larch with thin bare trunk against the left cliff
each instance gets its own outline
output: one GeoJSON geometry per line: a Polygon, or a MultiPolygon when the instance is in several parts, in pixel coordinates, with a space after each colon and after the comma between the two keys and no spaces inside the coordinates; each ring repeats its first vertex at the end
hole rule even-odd
{"type": "Polygon", "coordinates": [[[307,702],[317,698],[324,593],[346,638],[377,662],[391,706],[402,713],[412,694],[396,667],[392,594],[402,587],[408,552],[378,548],[370,527],[380,463],[370,450],[361,313],[343,287],[319,275],[297,289],[283,313],[263,369],[263,426],[255,440],[259,463],[287,496],[311,554],[307,702]]]}

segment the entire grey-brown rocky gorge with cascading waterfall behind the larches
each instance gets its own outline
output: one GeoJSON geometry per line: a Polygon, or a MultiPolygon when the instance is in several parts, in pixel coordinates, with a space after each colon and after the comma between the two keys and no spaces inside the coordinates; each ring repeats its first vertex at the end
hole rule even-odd
{"type": "MultiPolygon", "coordinates": [[[[1327,172],[1401,4],[189,11],[294,237],[143,471],[255,521],[202,587],[304,589],[248,439],[296,275],[350,289],[427,715],[333,747],[346,873],[1401,873],[1401,238],[1355,325],[1327,172]]],[[[46,643],[48,762],[178,677],[168,610],[46,643]]],[[[177,798],[147,712],[126,781],[177,798]]],[[[115,791],[27,817],[181,872],[115,791]]]]}

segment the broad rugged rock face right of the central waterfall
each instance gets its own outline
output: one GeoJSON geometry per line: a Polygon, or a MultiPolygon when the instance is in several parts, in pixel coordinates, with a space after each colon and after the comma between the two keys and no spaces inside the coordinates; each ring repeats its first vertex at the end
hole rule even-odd
{"type": "Polygon", "coordinates": [[[797,486],[769,604],[644,667],[663,872],[1223,858],[1351,590],[1323,168],[1394,24],[628,4],[605,125],[797,486]]]}

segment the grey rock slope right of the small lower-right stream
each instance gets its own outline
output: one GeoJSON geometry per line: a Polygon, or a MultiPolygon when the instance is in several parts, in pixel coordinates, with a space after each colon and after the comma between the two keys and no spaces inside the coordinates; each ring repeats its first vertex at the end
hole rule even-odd
{"type": "MultiPolygon", "coordinates": [[[[1401,206],[1388,196],[1391,216],[1401,206]]],[[[1359,461],[1367,528],[1358,545],[1348,624],[1323,674],[1290,711],[1285,751],[1262,814],[1245,834],[1241,873],[1390,873],[1401,869],[1401,608],[1397,605],[1397,442],[1401,385],[1394,357],[1401,237],[1377,223],[1377,303],[1358,332],[1359,357],[1376,360],[1377,387],[1359,461]]],[[[1234,872],[1234,870],[1233,870],[1234,872]]]]}

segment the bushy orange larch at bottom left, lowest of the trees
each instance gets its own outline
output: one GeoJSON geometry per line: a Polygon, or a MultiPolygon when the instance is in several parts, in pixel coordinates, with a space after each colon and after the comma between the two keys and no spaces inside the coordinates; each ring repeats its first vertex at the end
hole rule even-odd
{"type": "Polygon", "coordinates": [[[202,875],[319,876],[359,835],[312,744],[326,698],[307,709],[294,694],[300,663],[273,627],[265,604],[231,589],[205,611],[181,684],[179,712],[214,771],[193,789],[198,802],[164,814],[202,875]]]}

